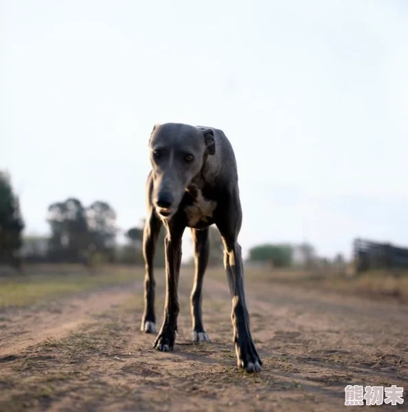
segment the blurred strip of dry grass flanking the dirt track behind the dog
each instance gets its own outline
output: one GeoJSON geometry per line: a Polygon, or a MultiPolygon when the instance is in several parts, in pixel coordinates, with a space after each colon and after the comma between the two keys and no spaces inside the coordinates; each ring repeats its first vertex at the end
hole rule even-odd
{"type": "MultiPolygon", "coordinates": [[[[183,268],[183,273],[193,271],[192,267],[183,268]]],[[[162,277],[162,272],[157,270],[156,276],[162,277]]],[[[140,266],[105,265],[93,271],[73,264],[26,266],[25,275],[0,277],[0,308],[27,306],[47,297],[85,292],[95,288],[130,285],[143,279],[143,276],[144,269],[140,266]]],[[[207,276],[226,282],[224,268],[209,268],[207,276]]],[[[376,271],[346,277],[343,273],[330,270],[313,272],[247,267],[245,278],[249,282],[276,282],[408,303],[408,273],[376,271]]]]}

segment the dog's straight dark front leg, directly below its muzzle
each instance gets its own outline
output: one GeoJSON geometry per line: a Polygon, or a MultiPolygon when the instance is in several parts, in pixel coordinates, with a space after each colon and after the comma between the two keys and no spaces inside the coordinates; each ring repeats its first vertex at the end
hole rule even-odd
{"type": "Polygon", "coordinates": [[[181,264],[181,236],[183,230],[168,227],[165,240],[166,247],[166,301],[164,304],[164,319],[161,330],[153,346],[163,352],[173,349],[177,332],[177,317],[179,315],[179,299],[177,286],[181,264]]]}

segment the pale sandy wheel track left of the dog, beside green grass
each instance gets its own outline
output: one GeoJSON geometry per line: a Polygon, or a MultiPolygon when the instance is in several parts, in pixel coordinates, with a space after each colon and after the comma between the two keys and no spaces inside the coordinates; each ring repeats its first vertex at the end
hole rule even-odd
{"type": "Polygon", "coordinates": [[[0,359],[47,339],[60,339],[122,301],[139,293],[141,284],[109,288],[49,301],[45,308],[8,310],[0,317],[0,359]]]}

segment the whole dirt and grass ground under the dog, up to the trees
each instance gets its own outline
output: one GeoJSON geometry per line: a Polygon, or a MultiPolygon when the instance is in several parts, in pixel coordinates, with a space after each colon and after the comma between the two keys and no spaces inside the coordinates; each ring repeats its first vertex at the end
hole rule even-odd
{"type": "MultiPolygon", "coordinates": [[[[190,342],[192,268],[182,268],[174,352],[139,331],[143,270],[36,266],[0,278],[0,411],[339,411],[346,385],[405,386],[407,277],[345,279],[247,269],[260,374],[236,367],[231,299],[208,271],[212,343],[190,342]]],[[[161,323],[164,277],[156,271],[161,323]]]]}

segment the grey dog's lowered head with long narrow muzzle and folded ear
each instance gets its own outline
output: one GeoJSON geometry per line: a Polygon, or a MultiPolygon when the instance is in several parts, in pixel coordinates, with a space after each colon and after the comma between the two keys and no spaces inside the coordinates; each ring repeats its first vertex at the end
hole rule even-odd
{"type": "Polygon", "coordinates": [[[170,218],[185,189],[215,153],[214,131],[187,124],[155,125],[149,140],[152,163],[152,201],[157,213],[170,218]]]}

